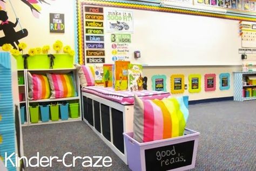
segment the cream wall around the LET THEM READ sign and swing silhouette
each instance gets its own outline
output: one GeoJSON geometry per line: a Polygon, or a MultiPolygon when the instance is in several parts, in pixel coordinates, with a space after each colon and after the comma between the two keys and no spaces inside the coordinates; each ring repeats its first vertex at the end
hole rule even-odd
{"type": "MultiPolygon", "coordinates": [[[[12,23],[16,22],[15,13],[11,8],[9,1],[5,1],[5,11],[8,12],[9,21],[12,23]]],[[[32,15],[29,6],[25,5],[20,0],[11,1],[14,6],[17,17],[22,25],[23,29],[28,30],[28,36],[19,40],[28,45],[26,52],[33,47],[42,47],[44,45],[50,45],[50,53],[55,53],[52,48],[52,44],[56,40],[63,42],[63,45],[69,45],[72,49],[75,48],[75,36],[74,36],[74,15],[75,15],[75,1],[73,0],[45,0],[45,3],[38,2],[41,6],[41,13],[39,18],[32,15]],[[65,33],[50,33],[49,30],[49,13],[64,13],[65,20],[65,33]]],[[[17,25],[15,31],[21,30],[20,26],[17,25]]],[[[3,37],[3,31],[0,31],[0,37],[3,37]]]]}

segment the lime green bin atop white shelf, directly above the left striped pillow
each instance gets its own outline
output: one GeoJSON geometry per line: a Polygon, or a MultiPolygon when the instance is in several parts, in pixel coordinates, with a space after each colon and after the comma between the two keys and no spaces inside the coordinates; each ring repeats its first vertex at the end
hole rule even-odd
{"type": "Polygon", "coordinates": [[[34,56],[29,56],[28,69],[50,69],[50,58],[47,54],[35,54],[34,56]]]}

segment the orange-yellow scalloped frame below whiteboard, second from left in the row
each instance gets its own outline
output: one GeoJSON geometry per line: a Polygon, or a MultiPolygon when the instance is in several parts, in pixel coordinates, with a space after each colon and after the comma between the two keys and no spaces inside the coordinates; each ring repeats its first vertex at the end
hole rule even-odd
{"type": "Polygon", "coordinates": [[[184,93],[184,75],[174,74],[171,76],[171,93],[184,93]]]}

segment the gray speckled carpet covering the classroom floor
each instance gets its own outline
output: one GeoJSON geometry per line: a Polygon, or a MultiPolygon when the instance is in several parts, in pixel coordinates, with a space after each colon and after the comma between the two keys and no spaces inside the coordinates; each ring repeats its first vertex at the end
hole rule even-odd
{"type": "MultiPolygon", "coordinates": [[[[193,170],[256,170],[256,101],[223,101],[190,105],[187,128],[200,132],[193,170]]],[[[26,170],[129,170],[83,121],[23,127],[25,156],[37,152],[59,156],[110,156],[109,168],[64,168],[53,160],[49,168],[26,170]]],[[[71,163],[71,158],[66,162],[71,163]]]]}

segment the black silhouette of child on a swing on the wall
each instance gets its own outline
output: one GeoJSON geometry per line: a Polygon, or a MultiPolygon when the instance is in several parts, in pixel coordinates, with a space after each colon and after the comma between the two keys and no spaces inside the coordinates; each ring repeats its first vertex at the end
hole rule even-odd
{"type": "Polygon", "coordinates": [[[4,37],[0,37],[0,46],[9,43],[14,49],[18,49],[19,39],[28,36],[28,30],[22,29],[16,32],[14,28],[18,24],[18,18],[15,23],[10,22],[6,11],[0,10],[0,20],[2,21],[0,30],[4,32],[4,37]]]}

